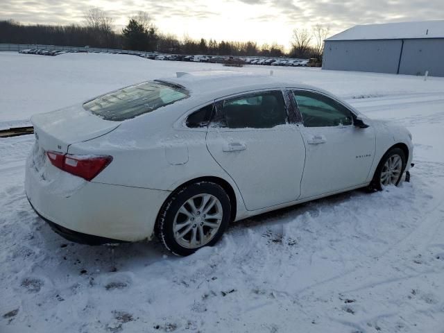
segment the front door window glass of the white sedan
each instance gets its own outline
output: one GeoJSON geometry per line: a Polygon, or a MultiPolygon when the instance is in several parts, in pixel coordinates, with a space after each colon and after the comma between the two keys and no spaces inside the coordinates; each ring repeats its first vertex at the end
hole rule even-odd
{"type": "Polygon", "coordinates": [[[305,127],[352,125],[352,113],[340,103],[316,92],[294,90],[305,127]]]}

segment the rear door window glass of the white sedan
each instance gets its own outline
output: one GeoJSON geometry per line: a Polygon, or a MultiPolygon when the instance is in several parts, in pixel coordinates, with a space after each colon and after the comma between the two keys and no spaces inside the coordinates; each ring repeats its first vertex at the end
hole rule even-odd
{"type": "Polygon", "coordinates": [[[214,126],[228,128],[273,128],[287,123],[282,92],[259,92],[226,99],[217,104],[214,126]]]}

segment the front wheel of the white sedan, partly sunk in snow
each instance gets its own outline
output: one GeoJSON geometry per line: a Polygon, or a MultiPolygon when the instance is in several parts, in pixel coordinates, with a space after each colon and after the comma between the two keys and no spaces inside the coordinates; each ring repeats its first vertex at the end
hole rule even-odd
{"type": "Polygon", "coordinates": [[[382,159],[376,168],[375,175],[373,176],[373,180],[370,184],[370,188],[377,191],[382,191],[382,189],[384,189],[384,187],[388,185],[398,186],[402,179],[402,174],[404,173],[406,163],[407,158],[404,151],[402,151],[401,148],[391,148],[384,154],[384,156],[382,156],[382,159]],[[395,164],[395,162],[393,161],[396,161],[397,157],[400,158],[400,169],[393,168],[393,171],[390,171],[388,164],[390,164],[391,162],[392,164],[395,164]]]}

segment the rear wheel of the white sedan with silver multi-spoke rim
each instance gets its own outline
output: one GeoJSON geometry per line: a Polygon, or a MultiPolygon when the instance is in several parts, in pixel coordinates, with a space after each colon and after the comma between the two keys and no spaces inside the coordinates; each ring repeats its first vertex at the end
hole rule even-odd
{"type": "Polygon", "coordinates": [[[216,244],[230,216],[230,198],[220,185],[195,182],[173,192],[164,203],[156,234],[171,253],[191,255],[199,248],[216,244]]]}

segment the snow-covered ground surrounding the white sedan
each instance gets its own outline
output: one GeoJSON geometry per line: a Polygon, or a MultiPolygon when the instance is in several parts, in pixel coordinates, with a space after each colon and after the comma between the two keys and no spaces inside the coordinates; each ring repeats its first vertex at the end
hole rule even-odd
{"type": "MultiPolygon", "coordinates": [[[[0,53],[0,128],[110,89],[220,65],[0,53]]],[[[444,332],[444,79],[244,67],[407,126],[412,182],[234,225],[186,258],[71,244],[24,195],[31,135],[0,139],[0,332],[444,332]]]]}

